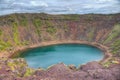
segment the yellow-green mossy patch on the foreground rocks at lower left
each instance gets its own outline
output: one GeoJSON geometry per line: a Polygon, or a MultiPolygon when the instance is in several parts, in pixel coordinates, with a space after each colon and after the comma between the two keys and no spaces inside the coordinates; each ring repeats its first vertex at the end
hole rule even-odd
{"type": "Polygon", "coordinates": [[[11,59],[7,62],[7,66],[20,77],[32,75],[34,72],[33,69],[27,67],[26,62],[23,59],[11,59]]]}

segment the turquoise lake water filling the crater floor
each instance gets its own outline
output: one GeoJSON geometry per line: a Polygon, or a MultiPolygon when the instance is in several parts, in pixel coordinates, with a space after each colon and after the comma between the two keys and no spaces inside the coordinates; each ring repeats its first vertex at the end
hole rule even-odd
{"type": "Polygon", "coordinates": [[[53,64],[74,64],[77,67],[90,61],[103,59],[103,52],[93,46],[84,44],[58,44],[38,47],[21,54],[32,68],[47,68],[53,64]]]}

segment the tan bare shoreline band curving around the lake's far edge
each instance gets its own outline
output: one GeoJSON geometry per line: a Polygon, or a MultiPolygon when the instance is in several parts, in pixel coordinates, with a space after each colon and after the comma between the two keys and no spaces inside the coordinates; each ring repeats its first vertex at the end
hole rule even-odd
{"type": "Polygon", "coordinates": [[[107,46],[104,46],[102,44],[99,44],[97,42],[88,42],[88,41],[79,41],[79,40],[63,40],[63,41],[46,41],[46,42],[41,42],[39,44],[35,44],[35,45],[31,45],[31,46],[23,46],[23,47],[17,47],[15,48],[15,50],[13,51],[9,51],[9,52],[0,52],[2,55],[0,55],[1,57],[6,57],[6,58],[12,58],[14,55],[19,54],[18,52],[22,52],[25,51],[27,49],[32,49],[32,48],[36,48],[36,47],[43,47],[43,46],[48,46],[48,45],[55,45],[55,44],[69,44],[69,43],[75,43],[75,44],[86,44],[86,45],[91,45],[94,47],[99,48],[100,50],[103,51],[104,57],[102,60],[100,60],[99,62],[106,62],[108,61],[111,57],[112,54],[109,51],[109,48],[107,46]],[[7,55],[7,56],[6,56],[7,55]]]}

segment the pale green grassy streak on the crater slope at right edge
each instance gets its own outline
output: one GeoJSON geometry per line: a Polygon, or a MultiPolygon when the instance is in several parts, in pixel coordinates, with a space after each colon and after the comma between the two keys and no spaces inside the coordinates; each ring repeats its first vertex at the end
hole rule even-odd
{"type": "Polygon", "coordinates": [[[112,29],[111,33],[108,35],[108,38],[104,41],[104,43],[110,42],[112,39],[116,38],[120,35],[120,24],[117,24],[112,29]]]}

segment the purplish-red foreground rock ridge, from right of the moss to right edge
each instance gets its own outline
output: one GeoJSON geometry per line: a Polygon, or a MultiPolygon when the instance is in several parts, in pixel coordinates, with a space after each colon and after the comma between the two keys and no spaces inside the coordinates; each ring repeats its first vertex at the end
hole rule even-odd
{"type": "MultiPolygon", "coordinates": [[[[37,71],[35,73],[36,76],[44,79],[48,78],[48,80],[119,80],[119,67],[117,68],[103,68],[102,65],[97,62],[90,62],[84,66],[87,70],[72,70],[69,69],[64,64],[56,64],[50,67],[46,71],[37,71]],[[96,65],[97,64],[97,65],[96,65]],[[93,66],[92,66],[93,65],[93,66]],[[96,66],[95,66],[96,65],[96,66]],[[89,69],[88,69],[88,66],[89,69]],[[39,74],[38,74],[39,73],[39,74]]],[[[83,66],[82,66],[83,67],[83,66]]]]}

